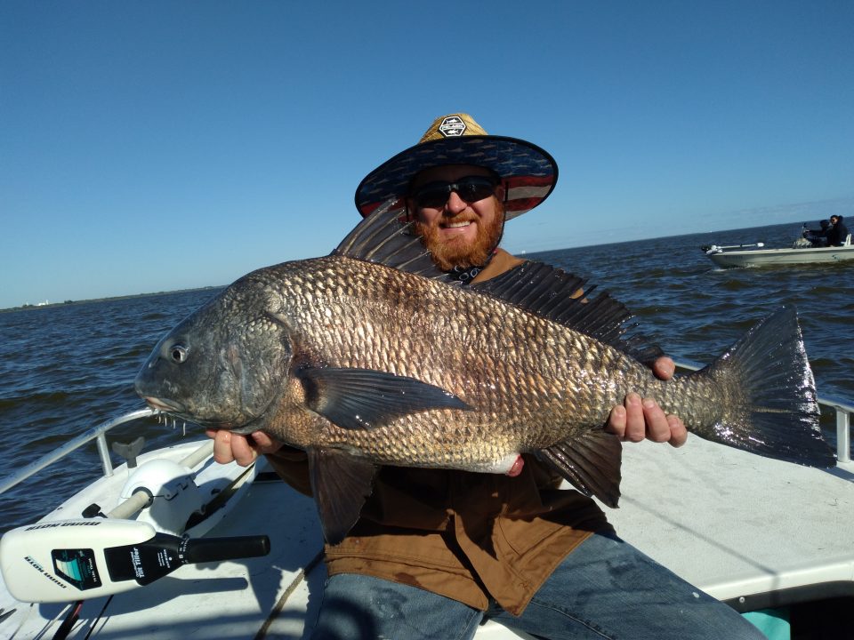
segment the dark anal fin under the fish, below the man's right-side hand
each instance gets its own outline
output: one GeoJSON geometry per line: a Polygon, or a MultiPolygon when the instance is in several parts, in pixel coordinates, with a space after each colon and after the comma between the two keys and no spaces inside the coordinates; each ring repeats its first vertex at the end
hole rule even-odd
{"type": "Polygon", "coordinates": [[[537,452],[578,491],[616,508],[620,499],[620,464],[623,445],[614,434],[587,431],[583,436],[537,452]]]}

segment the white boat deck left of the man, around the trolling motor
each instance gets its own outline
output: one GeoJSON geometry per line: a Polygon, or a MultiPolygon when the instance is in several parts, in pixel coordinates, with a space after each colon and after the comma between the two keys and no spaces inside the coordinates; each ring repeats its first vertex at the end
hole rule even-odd
{"type": "MultiPolygon", "coordinates": [[[[179,461],[203,442],[181,444],[157,453],[179,461]]],[[[142,455],[140,465],[151,457],[150,453],[142,455]]],[[[201,468],[204,471],[199,482],[205,487],[219,484],[223,469],[230,469],[232,476],[242,471],[234,464],[223,467],[211,460],[201,468]],[[206,475],[215,478],[209,480],[206,475]]],[[[90,485],[44,520],[80,517],[93,502],[108,512],[116,506],[117,494],[127,477],[125,465],[118,467],[113,476],[90,485]]],[[[233,506],[217,514],[219,523],[204,535],[214,538],[267,534],[270,555],[187,564],[148,587],[109,599],[85,600],[68,637],[285,640],[307,636],[326,578],[319,555],[323,544],[317,510],[313,500],[278,479],[265,477],[256,476],[254,482],[247,483],[233,506]]],[[[70,604],[20,603],[9,595],[0,577],[0,619],[8,614],[0,620],[0,638],[51,638],[70,607],[70,604]]],[[[519,637],[494,623],[481,627],[477,635],[478,640],[519,637]]]]}

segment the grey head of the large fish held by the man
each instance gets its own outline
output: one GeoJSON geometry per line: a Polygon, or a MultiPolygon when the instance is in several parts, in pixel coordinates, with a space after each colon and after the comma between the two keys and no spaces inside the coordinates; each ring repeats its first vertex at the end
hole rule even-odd
{"type": "Polygon", "coordinates": [[[263,428],[281,393],[291,343],[264,283],[252,274],[157,343],[134,381],[153,409],[205,428],[263,428]]]}

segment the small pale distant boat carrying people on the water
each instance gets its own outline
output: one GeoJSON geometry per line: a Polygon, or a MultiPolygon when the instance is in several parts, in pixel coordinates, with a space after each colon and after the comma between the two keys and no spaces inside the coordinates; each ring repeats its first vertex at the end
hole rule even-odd
{"type": "Polygon", "coordinates": [[[850,234],[842,246],[817,247],[809,241],[795,242],[788,248],[765,249],[764,246],[763,243],[710,244],[700,248],[718,267],[769,267],[854,260],[854,244],[851,244],[850,234]]]}

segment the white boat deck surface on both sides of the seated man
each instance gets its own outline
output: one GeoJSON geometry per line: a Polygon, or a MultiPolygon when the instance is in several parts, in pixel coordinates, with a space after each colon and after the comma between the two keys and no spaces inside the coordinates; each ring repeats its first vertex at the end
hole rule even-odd
{"type": "MultiPolygon", "coordinates": [[[[181,460],[198,443],[173,447],[181,460]]],[[[141,458],[144,461],[144,457],[141,458]]],[[[207,466],[216,468],[210,462],[207,466]]],[[[111,508],[126,471],[101,479],[49,517],[76,517],[92,501],[111,508]]],[[[762,459],[690,437],[624,446],[617,532],[658,562],[724,600],[766,606],[765,594],[797,589],[854,593],[854,465],[827,472],[762,459]],[[792,512],[795,506],[796,512],[792,512]],[[821,586],[816,586],[816,583],[821,586]]],[[[72,638],[301,638],[317,610],[325,572],[312,500],[286,484],[247,485],[207,535],[267,533],[269,556],[186,565],[146,588],[85,601],[72,638]],[[303,576],[303,571],[308,572],[303,576]]],[[[0,589],[0,637],[52,637],[65,604],[21,604],[0,589]]],[[[479,640],[519,637],[489,623],[479,640]]]]}

